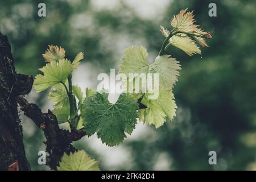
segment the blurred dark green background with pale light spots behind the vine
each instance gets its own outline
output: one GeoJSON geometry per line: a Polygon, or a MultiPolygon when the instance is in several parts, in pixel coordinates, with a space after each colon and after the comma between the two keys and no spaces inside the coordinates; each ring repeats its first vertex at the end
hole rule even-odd
{"type": "MultiPolygon", "coordinates": [[[[117,147],[105,146],[95,135],[75,145],[108,170],[255,170],[255,0],[0,1],[0,30],[10,40],[19,73],[35,76],[45,64],[42,53],[53,44],[64,47],[70,59],[85,53],[73,80],[84,90],[96,89],[97,75],[118,68],[126,47],[143,45],[153,60],[164,40],[159,26],[170,27],[172,16],[187,7],[197,24],[213,31],[213,39],[202,56],[168,50],[182,67],[174,88],[174,121],[157,130],[138,123],[117,147]],[[40,2],[46,3],[45,18],[37,14],[40,2]],[[217,17],[208,16],[210,2],[217,5],[217,17]],[[217,152],[217,165],[208,163],[211,150],[217,152]]],[[[27,98],[43,111],[52,109],[47,92],[32,90],[27,98]]],[[[38,164],[38,151],[45,147],[42,132],[21,117],[32,170],[49,169],[38,164]]]]}

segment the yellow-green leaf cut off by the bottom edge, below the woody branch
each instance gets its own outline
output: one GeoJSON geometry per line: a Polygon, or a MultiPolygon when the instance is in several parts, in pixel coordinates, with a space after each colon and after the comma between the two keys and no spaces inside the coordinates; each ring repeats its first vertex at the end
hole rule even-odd
{"type": "Polygon", "coordinates": [[[91,159],[85,151],[80,150],[67,155],[64,153],[57,166],[58,171],[99,171],[96,160],[91,159]]]}

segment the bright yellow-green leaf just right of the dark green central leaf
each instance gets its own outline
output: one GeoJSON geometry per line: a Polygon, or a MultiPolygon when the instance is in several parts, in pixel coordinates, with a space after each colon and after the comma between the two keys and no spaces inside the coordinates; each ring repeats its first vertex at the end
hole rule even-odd
{"type": "Polygon", "coordinates": [[[141,103],[147,106],[146,109],[139,109],[139,120],[146,125],[154,125],[156,128],[163,125],[166,117],[172,121],[175,116],[177,106],[174,100],[174,94],[168,91],[160,91],[156,100],[149,100],[149,94],[146,93],[141,103]]]}

